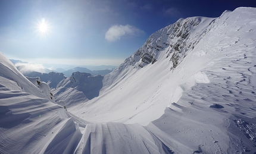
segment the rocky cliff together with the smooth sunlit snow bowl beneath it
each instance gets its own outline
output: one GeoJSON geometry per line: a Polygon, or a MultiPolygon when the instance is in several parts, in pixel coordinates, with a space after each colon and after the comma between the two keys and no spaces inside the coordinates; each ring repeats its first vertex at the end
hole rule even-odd
{"type": "MultiPolygon", "coordinates": [[[[199,76],[195,74],[200,74],[205,67],[205,58],[186,58],[188,62],[181,63],[205,36],[207,27],[214,20],[205,17],[180,19],[152,34],[135,54],[104,77],[101,95],[86,103],[85,108],[79,107],[79,114],[87,111],[84,116],[92,121],[141,124],[159,118],[166,106],[172,103],[170,101],[179,100],[183,92],[180,85],[192,82],[194,76],[195,81],[186,86],[189,89],[199,80],[195,79],[199,76]],[[179,65],[181,68],[176,70],[180,72],[174,73],[179,65]],[[189,69],[186,73],[182,71],[185,67],[189,69]],[[92,114],[94,111],[101,114],[92,114]]],[[[208,81],[207,76],[203,77],[208,81]]]]}

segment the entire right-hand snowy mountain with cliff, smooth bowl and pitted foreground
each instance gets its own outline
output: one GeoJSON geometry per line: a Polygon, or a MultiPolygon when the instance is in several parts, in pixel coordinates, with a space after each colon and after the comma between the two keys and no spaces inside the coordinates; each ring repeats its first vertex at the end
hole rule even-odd
{"type": "Polygon", "coordinates": [[[105,76],[97,98],[70,111],[146,125],[175,153],[254,153],[255,23],[255,8],[180,19],[105,76]]]}

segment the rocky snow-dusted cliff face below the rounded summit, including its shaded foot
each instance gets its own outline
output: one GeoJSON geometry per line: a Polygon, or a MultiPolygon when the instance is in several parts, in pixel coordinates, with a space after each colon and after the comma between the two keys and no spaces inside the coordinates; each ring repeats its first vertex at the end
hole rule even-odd
{"type": "Polygon", "coordinates": [[[120,78],[130,76],[131,71],[157,62],[166,62],[166,59],[168,70],[173,71],[214,27],[215,22],[216,18],[180,18],[176,23],[151,34],[141,48],[104,77],[103,90],[112,87],[120,78]]]}

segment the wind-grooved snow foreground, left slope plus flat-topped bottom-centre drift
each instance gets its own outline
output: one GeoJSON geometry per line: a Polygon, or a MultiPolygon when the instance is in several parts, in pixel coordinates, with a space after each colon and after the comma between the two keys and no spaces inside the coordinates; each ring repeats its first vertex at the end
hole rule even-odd
{"type": "MultiPolygon", "coordinates": [[[[0,153],[168,151],[139,124],[90,124],[76,117],[44,95],[2,54],[0,61],[0,153]]],[[[30,80],[37,85],[39,78],[30,80]]]]}

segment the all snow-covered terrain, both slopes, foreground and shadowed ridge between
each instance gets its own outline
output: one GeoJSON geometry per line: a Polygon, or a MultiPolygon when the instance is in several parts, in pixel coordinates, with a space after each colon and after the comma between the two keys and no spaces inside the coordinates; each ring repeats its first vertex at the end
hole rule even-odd
{"type": "Polygon", "coordinates": [[[256,8],[180,19],[100,84],[64,78],[67,111],[1,54],[0,153],[255,153],[255,36],[256,8]]]}

